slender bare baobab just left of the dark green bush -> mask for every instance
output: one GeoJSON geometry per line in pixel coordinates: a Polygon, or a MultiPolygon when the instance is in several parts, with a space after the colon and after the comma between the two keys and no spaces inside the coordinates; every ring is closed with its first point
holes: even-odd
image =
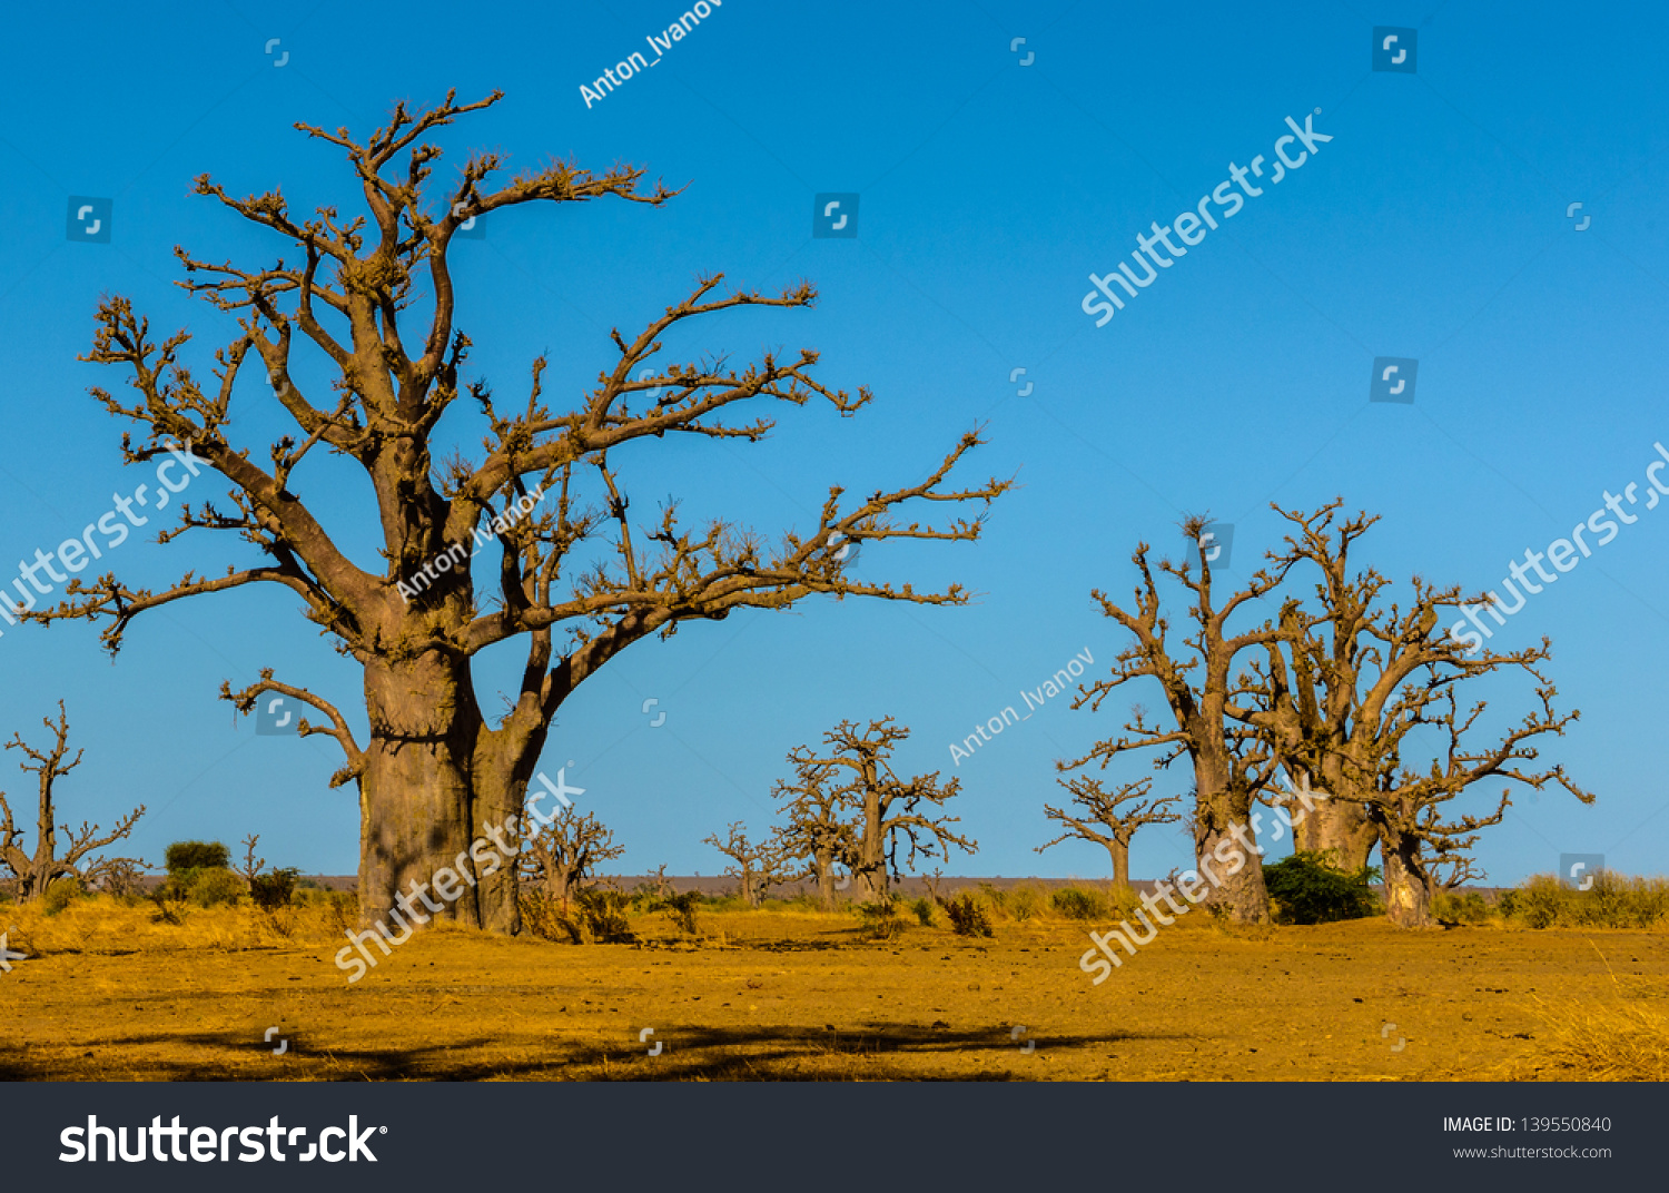
{"type": "MultiPolygon", "coordinates": [[[[1183,522],[1183,534],[1197,544],[1207,526],[1208,519],[1190,517],[1183,522]]],[[[1205,903],[1238,923],[1265,923],[1268,894],[1255,856],[1252,806],[1278,779],[1280,764],[1258,731],[1237,719],[1233,672],[1242,651],[1277,642],[1285,631],[1265,621],[1232,632],[1228,622],[1247,604],[1277,589],[1290,564],[1277,561],[1272,569],[1258,571],[1245,587],[1218,601],[1208,552],[1198,552],[1198,574],[1192,561],[1162,561],[1160,571],[1193,596],[1187,614],[1192,634],[1172,644],[1148,552],[1143,542],[1132,556],[1140,584],[1130,609],[1100,591],[1092,592],[1102,611],[1133,641],[1113,661],[1112,676],[1080,689],[1073,707],[1100,711],[1115,689],[1148,679],[1163,692],[1173,727],[1148,721],[1145,709],[1137,706],[1123,736],[1097,742],[1087,756],[1063,763],[1061,769],[1078,769],[1090,761],[1105,768],[1130,751],[1162,749],[1155,759],[1160,769],[1187,756],[1195,789],[1190,818],[1193,849],[1200,873],[1210,881],[1205,903]]]]}

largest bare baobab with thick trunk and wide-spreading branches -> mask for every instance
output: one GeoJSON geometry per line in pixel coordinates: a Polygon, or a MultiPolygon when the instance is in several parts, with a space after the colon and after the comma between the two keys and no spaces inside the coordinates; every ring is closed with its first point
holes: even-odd
{"type": "MultiPolygon", "coordinates": [[[[813,350],[766,354],[748,367],[668,360],[663,339],[709,315],[809,307],[816,297],[808,284],[779,295],[724,290],[718,275],[699,280],[641,334],[613,332],[611,360],[572,402],[547,399],[542,357],[532,362],[527,392],[511,402],[466,377],[471,339],[456,320],[452,272],[454,250],[469,244],[456,239],[462,224],[532,204],[616,199],[656,207],[673,197],[644,187],[644,172],[624,165],[591,172],[556,162],[502,180],[496,152],[469,157],[449,184],[432,179],[441,150],[426,137],[497,98],[456,103],[449,93],[427,110],[399,103],[364,140],[347,128],[297,125],[345,154],[357,214],[320,207],[304,219],[279,190],[237,199],[209,175],[197,180],[199,194],[290,247],[247,269],[177,250],[182,285],[237,320],[235,337],[214,357],[212,382],[187,362],[187,332],[159,339],[124,297],[100,304],[87,359],[122,369],[135,394],[127,402],[93,390],[112,415],[139,427],[137,440],[124,439],[129,462],[189,444],[194,461],[229,482],[230,506],[184,507],[162,541],[199,529],[230,532],[264,559],[225,574],[189,572],[160,592],[129,587],[115,574],[75,579],[58,607],[30,614],[107,619],[103,641],[117,651],[135,617],[175,601],[252,584],[294,592],[305,616],[362,667],[369,739],[355,741],[324,696],[269,672],[224,694],[245,712],[264,692],[292,696],[324,717],[302,732],[340,742],[347,761],[332,783],[359,788],[366,924],[384,919],[402,888],[452,868],[466,886],[442,914],[516,931],[516,868],[477,874],[471,844],[521,814],[551,721],[581,682],[639,639],[736,609],[786,609],[813,594],[958,604],[966,599],[960,586],[916,592],[860,582],[838,552],[848,542],[975,539],[988,502],[1006,487],[946,486],[980,442],[968,432],[916,484],[845,507],[841,489],[831,489],[816,526],[784,532],[776,546],[734,521],[691,529],[678,521],[676,502],[634,527],[619,452],[666,435],[756,442],[773,422],[748,404],[823,399],[851,415],[870,390],[851,395],[816,380],[813,350]],[[330,375],[329,395],[304,385],[304,350],[330,375]],[[272,444],[270,462],[230,439],[234,392],[250,365],[295,422],[294,435],[272,444]],[[464,410],[457,417],[469,419],[471,409],[479,415],[482,447],[472,459],[451,454],[442,462],[437,454],[456,435],[436,442],[437,429],[454,407],[464,410]],[[726,417],[743,407],[754,412],[726,417]],[[320,454],[364,472],[364,522],[376,527],[381,547],[374,566],[344,546],[361,527],[324,522],[317,499],[325,487],[332,501],[361,489],[344,487],[340,477],[325,486],[320,454]],[[898,511],[918,499],[965,512],[925,526],[898,511]],[[491,552],[479,567],[469,562],[477,542],[491,552]],[[507,711],[489,721],[474,664],[516,641],[526,646],[521,679],[507,711]]],[[[244,389],[247,395],[247,382],[244,389]]],[[[469,432],[469,424],[456,430],[469,432]]]]}

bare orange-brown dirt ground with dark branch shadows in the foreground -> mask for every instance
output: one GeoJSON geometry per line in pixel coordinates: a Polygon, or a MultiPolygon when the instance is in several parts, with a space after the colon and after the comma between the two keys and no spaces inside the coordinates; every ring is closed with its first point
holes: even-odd
{"type": "Polygon", "coordinates": [[[1562,1026],[1669,1004],[1654,931],[1253,939],[1178,919],[1093,986],[1068,921],[865,941],[846,914],[718,913],[699,944],[634,928],[649,939],[429,931],[349,986],[322,931],[169,946],[83,926],[0,974],[0,1078],[1586,1080],[1562,1026]]]}

